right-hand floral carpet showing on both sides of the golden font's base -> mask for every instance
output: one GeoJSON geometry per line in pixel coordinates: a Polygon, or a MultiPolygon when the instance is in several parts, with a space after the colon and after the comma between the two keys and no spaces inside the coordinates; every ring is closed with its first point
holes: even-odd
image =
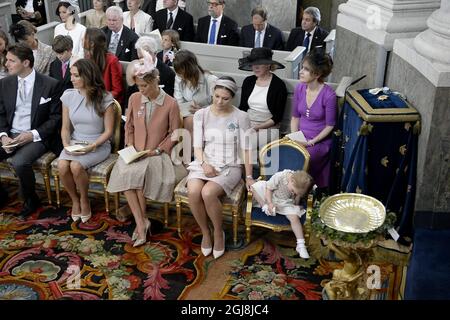
{"type": "MultiPolygon", "coordinates": [[[[298,257],[294,248],[277,243],[275,239],[259,240],[252,252],[232,261],[232,271],[221,297],[243,300],[321,300],[324,283],[333,277],[333,270],[343,263],[333,259],[321,248],[319,256],[326,259],[298,257]]],[[[310,248],[310,250],[312,250],[310,248]]],[[[311,252],[311,251],[310,251],[311,252]]],[[[377,248],[367,265],[378,266],[380,287],[369,291],[371,300],[399,299],[406,268],[404,254],[377,248]]],[[[368,271],[363,282],[371,276],[368,271]]]]}

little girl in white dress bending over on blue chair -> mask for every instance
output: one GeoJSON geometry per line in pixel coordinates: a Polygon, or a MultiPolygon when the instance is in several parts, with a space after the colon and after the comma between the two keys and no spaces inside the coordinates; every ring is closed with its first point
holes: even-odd
{"type": "Polygon", "coordinates": [[[312,177],[303,170],[283,170],[275,173],[269,181],[260,180],[251,186],[253,198],[256,200],[255,206],[259,205],[268,216],[278,213],[285,215],[290,221],[297,238],[296,251],[304,259],[308,259],[309,254],[300,222],[305,209],[300,208],[299,202],[312,186],[312,177]]]}

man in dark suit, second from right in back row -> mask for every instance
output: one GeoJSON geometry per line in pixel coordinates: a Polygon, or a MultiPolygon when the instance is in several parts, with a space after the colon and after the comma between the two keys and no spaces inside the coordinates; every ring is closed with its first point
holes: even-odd
{"type": "Polygon", "coordinates": [[[241,47],[270,48],[283,50],[283,35],[280,29],[267,23],[267,10],[256,7],[252,10],[252,24],[241,29],[241,47]]]}

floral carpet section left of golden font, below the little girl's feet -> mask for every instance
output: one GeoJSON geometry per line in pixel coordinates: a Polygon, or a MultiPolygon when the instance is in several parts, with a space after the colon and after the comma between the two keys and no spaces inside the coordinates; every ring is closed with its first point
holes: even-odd
{"type": "Polygon", "coordinates": [[[243,300],[320,300],[320,282],[330,278],[332,270],[319,274],[315,272],[318,266],[313,258],[299,258],[294,248],[265,240],[254,253],[248,254],[243,260],[232,262],[228,290],[224,297],[243,300]]]}

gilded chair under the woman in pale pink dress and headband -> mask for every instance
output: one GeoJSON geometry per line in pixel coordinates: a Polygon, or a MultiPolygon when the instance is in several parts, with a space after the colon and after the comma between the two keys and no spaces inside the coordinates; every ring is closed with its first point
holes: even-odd
{"type": "MultiPolygon", "coordinates": [[[[177,226],[178,232],[181,232],[181,204],[188,205],[188,195],[187,195],[187,177],[178,183],[175,187],[175,201],[177,205],[177,226]]],[[[223,213],[231,215],[233,223],[233,243],[237,246],[237,234],[238,234],[238,223],[239,223],[239,212],[245,197],[245,182],[243,180],[239,181],[237,186],[233,189],[230,196],[222,197],[222,207],[223,213]]]]}

